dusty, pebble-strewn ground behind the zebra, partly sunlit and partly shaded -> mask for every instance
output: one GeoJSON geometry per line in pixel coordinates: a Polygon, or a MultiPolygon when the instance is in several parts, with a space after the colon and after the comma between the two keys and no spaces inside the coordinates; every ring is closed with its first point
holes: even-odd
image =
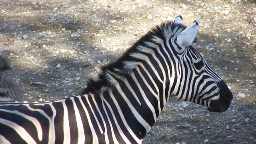
{"type": "Polygon", "coordinates": [[[256,143],[255,0],[0,0],[0,54],[27,101],[77,94],[155,24],[200,18],[200,51],[234,94],[224,113],[170,99],[144,144],[256,143]]]}

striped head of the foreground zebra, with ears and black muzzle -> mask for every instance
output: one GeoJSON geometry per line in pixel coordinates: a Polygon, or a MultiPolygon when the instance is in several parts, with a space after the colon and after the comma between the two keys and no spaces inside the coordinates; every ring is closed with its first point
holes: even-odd
{"type": "Polygon", "coordinates": [[[172,52],[176,53],[174,60],[177,82],[172,87],[173,96],[206,106],[210,112],[226,111],[233,98],[232,92],[192,46],[198,31],[199,19],[187,28],[182,28],[183,20],[178,14],[173,25],[180,27],[169,39],[172,52]]]}

